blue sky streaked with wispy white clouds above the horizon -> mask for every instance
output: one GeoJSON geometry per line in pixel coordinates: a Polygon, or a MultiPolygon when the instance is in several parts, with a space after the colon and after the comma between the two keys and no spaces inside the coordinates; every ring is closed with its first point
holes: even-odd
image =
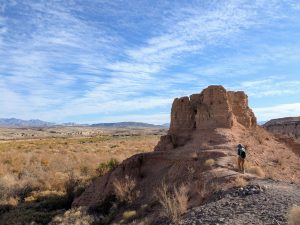
{"type": "Polygon", "coordinates": [[[211,84],[300,116],[300,2],[0,0],[0,118],[162,124],[211,84]]]}

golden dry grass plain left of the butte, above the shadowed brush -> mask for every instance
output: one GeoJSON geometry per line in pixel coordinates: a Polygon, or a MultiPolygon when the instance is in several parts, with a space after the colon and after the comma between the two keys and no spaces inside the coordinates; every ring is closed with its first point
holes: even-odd
{"type": "Polygon", "coordinates": [[[41,189],[63,191],[70,171],[90,179],[98,175],[96,169],[101,163],[112,157],[120,162],[150,151],[158,140],[151,135],[4,141],[0,142],[0,179],[9,175],[18,183],[30,180],[41,189]],[[111,149],[113,145],[119,147],[111,149]]]}

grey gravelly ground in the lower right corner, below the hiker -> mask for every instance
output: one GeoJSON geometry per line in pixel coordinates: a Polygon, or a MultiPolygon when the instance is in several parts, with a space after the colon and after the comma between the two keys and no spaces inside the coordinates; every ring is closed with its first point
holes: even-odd
{"type": "Polygon", "coordinates": [[[300,204],[299,185],[256,180],[244,188],[216,193],[210,202],[190,210],[179,224],[282,225],[287,224],[288,209],[294,204],[300,204]]]}

